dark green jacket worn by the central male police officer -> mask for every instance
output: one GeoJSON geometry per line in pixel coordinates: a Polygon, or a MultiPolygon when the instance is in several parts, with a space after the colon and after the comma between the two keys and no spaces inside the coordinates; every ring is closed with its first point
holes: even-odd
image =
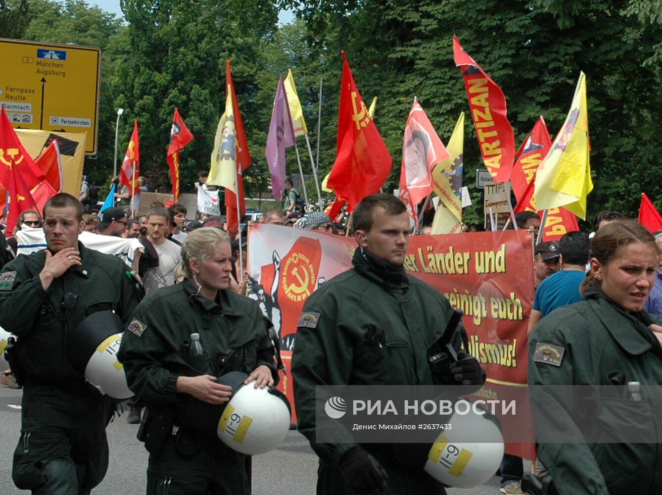
{"type": "MultiPolygon", "coordinates": [[[[428,349],[444,334],[452,314],[440,292],[404,274],[404,268],[364,258],[359,249],[352,262],[352,270],[308,298],[303,312],[320,316],[314,328],[297,329],[292,357],[298,429],[322,465],[332,468],[357,444],[350,431],[348,443],[315,441],[315,386],[432,385],[428,349]],[[375,331],[383,331],[381,347],[369,339],[375,331]]],[[[428,478],[422,471],[415,474],[428,478]]]]}

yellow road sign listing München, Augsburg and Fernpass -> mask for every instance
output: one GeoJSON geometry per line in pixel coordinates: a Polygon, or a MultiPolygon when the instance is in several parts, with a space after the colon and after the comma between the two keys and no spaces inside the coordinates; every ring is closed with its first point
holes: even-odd
{"type": "Polygon", "coordinates": [[[87,133],[97,152],[101,50],[0,39],[0,105],[15,128],[87,133]]]}

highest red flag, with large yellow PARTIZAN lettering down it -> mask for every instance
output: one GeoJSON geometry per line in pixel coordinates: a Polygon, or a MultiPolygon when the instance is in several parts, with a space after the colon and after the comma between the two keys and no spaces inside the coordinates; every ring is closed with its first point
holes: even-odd
{"type": "Polygon", "coordinates": [[[501,88],[453,36],[455,65],[461,67],[471,119],[476,128],[483,162],[494,182],[506,182],[515,157],[515,137],[506,117],[506,98],[501,88]]]}

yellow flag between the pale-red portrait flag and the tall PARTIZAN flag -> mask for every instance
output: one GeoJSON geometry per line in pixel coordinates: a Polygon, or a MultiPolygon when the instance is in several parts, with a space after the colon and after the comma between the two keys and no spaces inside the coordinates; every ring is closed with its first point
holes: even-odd
{"type": "Polygon", "coordinates": [[[462,225],[464,112],[459,115],[446,150],[449,158],[432,170],[432,189],[441,199],[432,223],[433,234],[451,234],[462,225]]]}

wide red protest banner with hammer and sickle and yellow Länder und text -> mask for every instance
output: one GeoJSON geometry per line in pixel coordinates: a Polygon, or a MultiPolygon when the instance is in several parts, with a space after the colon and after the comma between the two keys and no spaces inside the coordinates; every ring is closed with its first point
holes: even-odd
{"type": "MultiPolygon", "coordinates": [[[[273,321],[288,371],[305,301],[324,282],[352,267],[355,248],[352,237],[279,225],[251,226],[249,296],[273,321]]],[[[520,230],[415,236],[404,266],[409,274],[442,292],[453,307],[463,311],[468,351],[481,362],[488,376],[477,397],[496,399],[509,387],[526,387],[526,327],[534,299],[529,233],[520,230]]],[[[294,404],[291,374],[281,378],[279,388],[294,404]]],[[[503,427],[522,429],[526,425],[504,421],[503,427]]],[[[509,444],[506,451],[529,459],[533,453],[528,444],[509,444]]]]}

